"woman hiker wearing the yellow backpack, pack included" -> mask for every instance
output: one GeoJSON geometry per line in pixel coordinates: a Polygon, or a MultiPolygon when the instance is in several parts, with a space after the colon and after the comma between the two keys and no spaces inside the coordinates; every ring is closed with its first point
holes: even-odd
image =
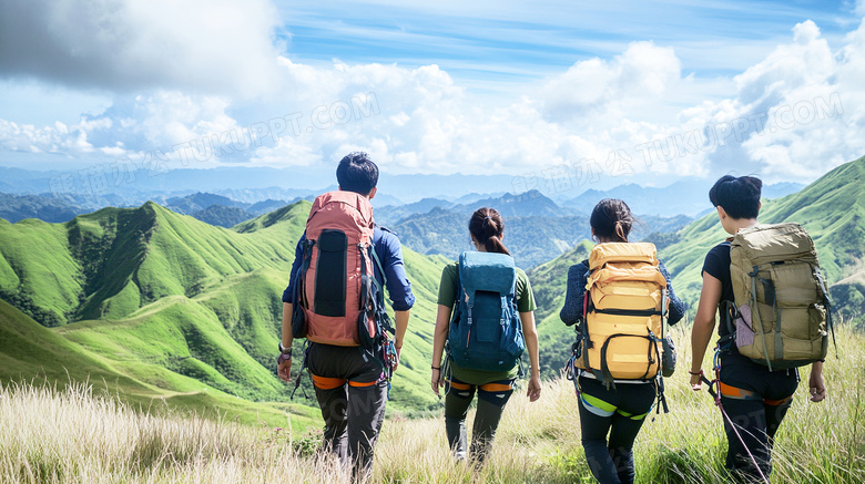
{"type": "MultiPolygon", "coordinates": [[[[645,416],[654,408],[655,397],[659,398],[664,408],[666,405],[665,401],[662,400],[663,382],[655,378],[660,370],[660,361],[654,357],[658,353],[658,347],[661,344],[658,341],[650,343],[648,337],[652,333],[647,330],[647,325],[625,323],[634,320],[640,322],[647,318],[652,318],[651,323],[658,325],[655,333],[661,336],[663,331],[660,327],[662,323],[661,318],[663,317],[662,312],[666,311],[666,319],[670,325],[675,325],[684,315],[684,305],[673,292],[670,274],[666,271],[666,268],[657,260],[654,246],[645,243],[628,243],[628,235],[633,223],[634,218],[631,215],[631,209],[620,199],[606,198],[594,206],[590,225],[592,238],[598,244],[592,249],[589,259],[571,266],[568,270],[564,306],[559,315],[566,325],[578,325],[576,330],[578,334],[581,334],[578,338],[591,340],[591,343],[588,344],[586,341],[580,343],[578,339],[574,349],[580,348],[580,354],[574,352],[569,364],[569,371],[572,372],[571,375],[574,380],[580,403],[580,431],[586,460],[594,478],[602,484],[633,483],[634,439],[637,439],[645,416]],[[594,292],[589,292],[589,297],[587,297],[587,282],[591,286],[599,281],[599,278],[604,277],[608,265],[612,265],[615,261],[613,257],[603,256],[604,251],[618,254],[619,262],[624,260],[624,264],[629,264],[629,267],[639,266],[644,271],[647,282],[641,287],[645,287],[647,291],[651,289],[651,292],[645,294],[645,300],[637,302],[639,307],[628,308],[635,309],[637,311],[632,311],[635,312],[634,315],[629,315],[624,310],[625,308],[618,307],[614,308],[617,312],[611,310],[603,313],[603,309],[600,307],[602,301],[598,300],[599,298],[596,299],[594,292]],[[610,259],[610,262],[607,262],[607,265],[594,266],[596,259],[603,261],[607,258],[610,259]],[[634,259],[634,262],[631,262],[631,259],[634,259]],[[638,259],[642,259],[642,264],[637,262],[638,259]],[[596,270],[590,270],[590,267],[596,270]],[[663,299],[669,300],[669,308],[663,308],[665,306],[662,302],[663,299]],[[658,308],[659,303],[662,307],[658,308]],[[596,305],[599,307],[596,308],[596,305]],[[653,316],[648,316],[645,310],[652,308],[652,306],[655,307],[650,311],[653,316]],[[600,320],[601,317],[606,317],[606,320],[600,320]],[[622,328],[621,331],[625,331],[623,328],[635,326],[638,330],[647,334],[638,338],[619,338],[617,340],[613,337],[630,334],[613,333],[610,336],[609,327],[612,327],[612,325],[606,325],[607,321],[619,322],[619,327],[622,328]],[[596,331],[600,333],[606,332],[608,339],[604,340],[604,336],[599,336],[596,331]],[[624,351],[629,346],[633,347],[634,356],[631,360],[639,361],[641,358],[642,362],[620,364],[619,367],[613,367],[612,363],[608,367],[607,362],[592,362],[598,356],[601,356],[601,360],[603,359],[602,356],[604,353],[600,351],[607,348],[606,342],[613,342],[609,346],[612,351],[624,351]],[[590,354],[592,351],[596,352],[596,356],[590,354]],[[586,362],[591,362],[591,364],[586,364],[586,362]],[[607,371],[600,371],[598,368],[592,370],[591,365],[600,365],[608,369],[610,371],[609,377],[607,371]],[[627,368],[629,365],[632,368],[627,368]],[[628,371],[632,374],[628,374],[628,371]],[[608,433],[609,441],[607,439],[608,433]]],[[[610,285],[614,284],[617,282],[610,282],[610,285]]],[[[632,290],[629,289],[629,291],[622,292],[629,294],[632,290]]],[[[610,298],[612,298],[614,292],[610,291],[610,298]]],[[[623,299],[620,298],[619,303],[623,299]]],[[[664,352],[666,357],[672,358],[672,348],[664,348],[664,352]]],[[[610,357],[607,358],[607,361],[612,360],[610,357]]]]}

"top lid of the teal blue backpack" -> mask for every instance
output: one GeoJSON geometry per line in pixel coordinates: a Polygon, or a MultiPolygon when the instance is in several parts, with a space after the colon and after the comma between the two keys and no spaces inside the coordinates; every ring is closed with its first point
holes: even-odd
{"type": "Polygon", "coordinates": [[[459,256],[459,284],[475,301],[475,291],[516,296],[517,270],[513,257],[507,254],[466,251],[459,256]]]}

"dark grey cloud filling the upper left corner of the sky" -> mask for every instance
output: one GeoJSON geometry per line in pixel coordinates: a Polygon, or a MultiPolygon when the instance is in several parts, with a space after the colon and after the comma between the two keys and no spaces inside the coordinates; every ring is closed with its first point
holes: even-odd
{"type": "Polygon", "coordinates": [[[278,21],[267,0],[10,0],[0,72],[128,91],[266,92],[278,21]]]}

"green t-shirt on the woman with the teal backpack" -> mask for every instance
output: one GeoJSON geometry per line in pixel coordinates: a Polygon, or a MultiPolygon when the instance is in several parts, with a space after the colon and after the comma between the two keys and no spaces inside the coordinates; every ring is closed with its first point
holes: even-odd
{"type": "MultiPolygon", "coordinates": [[[[450,308],[454,312],[454,305],[457,298],[457,286],[459,286],[459,264],[454,262],[445,266],[441,271],[441,282],[438,286],[438,303],[450,308]]],[[[528,276],[519,267],[517,268],[517,310],[519,312],[531,312],[537,308],[535,305],[535,294],[531,291],[531,284],[528,276]]],[[[455,379],[469,384],[485,384],[499,380],[513,380],[519,373],[519,365],[515,365],[508,371],[481,371],[460,368],[449,362],[451,373],[455,379]]]]}

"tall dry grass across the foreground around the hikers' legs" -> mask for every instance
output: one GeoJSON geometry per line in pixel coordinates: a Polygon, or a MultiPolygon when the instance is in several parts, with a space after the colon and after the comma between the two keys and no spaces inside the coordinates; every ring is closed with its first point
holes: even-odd
{"type": "MultiPolygon", "coordinates": [[[[689,334],[673,334],[681,357],[680,370],[666,380],[671,413],[647,419],[634,449],[637,480],[729,482],[721,414],[705,392],[688,387],[689,334]]],[[[842,328],[837,359],[834,354],[825,369],[826,401],[810,403],[807,390],[800,389],[782,424],[773,483],[865,482],[865,337],[842,328]]],[[[94,395],[85,383],[63,392],[10,384],[0,389],[0,482],[348,482],[333,460],[315,456],[315,433],[296,440],[289,434],[196,415],[154,416],[111,395],[94,395]]],[[[567,380],[547,382],[535,403],[515,394],[493,454],[479,472],[451,459],[441,418],[388,420],[376,449],[374,481],[592,482],[580,446],[573,387],[567,380]]]]}

